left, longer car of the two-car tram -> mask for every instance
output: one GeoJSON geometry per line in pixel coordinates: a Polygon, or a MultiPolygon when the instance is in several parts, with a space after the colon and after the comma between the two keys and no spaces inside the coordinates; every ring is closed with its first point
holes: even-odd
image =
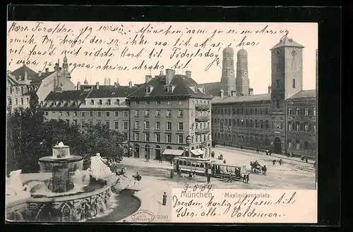
{"type": "Polygon", "coordinates": [[[174,158],[174,171],[181,173],[189,173],[194,171],[198,176],[205,176],[212,173],[212,164],[215,161],[210,159],[200,159],[191,157],[176,157],[174,158]]]}

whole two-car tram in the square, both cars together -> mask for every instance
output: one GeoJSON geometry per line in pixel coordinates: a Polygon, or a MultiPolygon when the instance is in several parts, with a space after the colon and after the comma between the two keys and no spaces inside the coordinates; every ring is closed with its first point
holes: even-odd
{"type": "Polygon", "coordinates": [[[229,164],[219,164],[211,159],[198,159],[192,157],[176,157],[173,162],[174,171],[189,173],[194,171],[196,175],[206,176],[210,174],[214,178],[241,179],[246,173],[246,166],[232,166],[229,164]]]}

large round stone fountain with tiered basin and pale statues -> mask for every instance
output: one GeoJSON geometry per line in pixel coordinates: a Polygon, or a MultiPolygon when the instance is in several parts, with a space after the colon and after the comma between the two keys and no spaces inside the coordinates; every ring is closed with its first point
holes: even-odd
{"type": "MultiPolygon", "coordinates": [[[[114,196],[109,180],[115,175],[100,154],[91,158],[90,169],[82,170],[83,157],[71,155],[70,147],[64,143],[54,146],[52,153],[40,158],[40,173],[37,173],[38,177],[52,173],[50,178],[32,180],[23,186],[20,171],[15,171],[6,180],[6,204],[16,195],[23,196],[27,204],[25,216],[21,214],[17,218],[20,221],[23,218],[25,221],[82,221],[106,214],[114,196]]],[[[11,207],[7,204],[8,208],[11,207]]],[[[13,215],[8,214],[8,219],[15,220],[13,215]]]]}

